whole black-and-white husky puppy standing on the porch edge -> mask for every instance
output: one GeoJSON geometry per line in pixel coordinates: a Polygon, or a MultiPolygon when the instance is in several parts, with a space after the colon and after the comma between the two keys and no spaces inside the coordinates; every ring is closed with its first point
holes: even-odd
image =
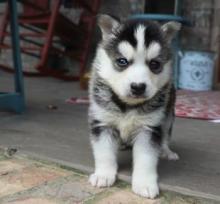
{"type": "Polygon", "coordinates": [[[95,172],[93,186],[113,185],[120,144],[133,147],[132,190],[159,194],[161,155],[178,159],[168,147],[174,119],[171,41],[177,22],[98,19],[102,31],[90,80],[89,125],[95,172]]]}

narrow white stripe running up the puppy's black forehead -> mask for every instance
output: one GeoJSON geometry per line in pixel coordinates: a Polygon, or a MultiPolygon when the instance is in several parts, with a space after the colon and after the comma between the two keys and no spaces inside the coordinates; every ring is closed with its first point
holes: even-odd
{"type": "Polygon", "coordinates": [[[135,38],[137,40],[137,51],[143,52],[146,50],[145,48],[145,29],[146,27],[144,25],[139,25],[137,27],[137,30],[135,32],[135,38]]]}

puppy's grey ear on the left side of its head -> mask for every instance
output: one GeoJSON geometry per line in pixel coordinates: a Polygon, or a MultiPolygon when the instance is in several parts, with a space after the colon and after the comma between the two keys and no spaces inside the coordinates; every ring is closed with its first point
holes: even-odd
{"type": "Polygon", "coordinates": [[[98,25],[102,31],[103,40],[107,40],[119,27],[120,22],[109,15],[101,14],[98,16],[98,25]]]}

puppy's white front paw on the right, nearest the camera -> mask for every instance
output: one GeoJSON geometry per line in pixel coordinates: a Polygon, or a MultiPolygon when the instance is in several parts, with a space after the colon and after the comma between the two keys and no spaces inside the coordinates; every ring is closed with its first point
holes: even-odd
{"type": "Polygon", "coordinates": [[[159,187],[156,181],[133,181],[132,190],[140,196],[151,199],[159,195],[159,187]]]}

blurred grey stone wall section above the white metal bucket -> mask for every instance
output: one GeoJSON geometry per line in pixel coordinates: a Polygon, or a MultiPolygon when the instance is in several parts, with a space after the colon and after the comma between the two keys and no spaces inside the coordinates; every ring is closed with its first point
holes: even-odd
{"type": "Polygon", "coordinates": [[[213,6],[213,0],[183,1],[183,16],[192,23],[192,27],[183,28],[182,44],[185,49],[211,50],[213,6]]]}

